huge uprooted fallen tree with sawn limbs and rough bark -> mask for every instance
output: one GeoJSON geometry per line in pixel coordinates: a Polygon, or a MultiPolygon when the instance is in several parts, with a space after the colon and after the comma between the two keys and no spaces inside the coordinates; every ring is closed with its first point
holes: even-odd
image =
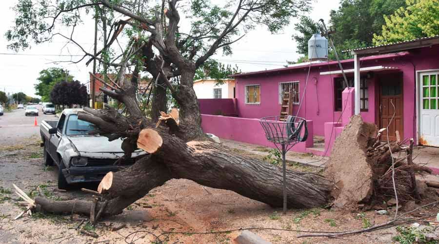
{"type": "MultiPolygon", "coordinates": [[[[88,62],[97,60],[118,72],[117,80],[114,81],[109,78],[95,79],[102,82],[103,87],[100,87],[100,90],[104,94],[124,104],[125,113],[121,114],[110,107],[103,110],[86,108],[78,114],[78,118],[95,124],[96,129],[92,134],[106,136],[110,141],[122,138],[124,158],[131,157],[137,148],[149,152],[149,155],[139,158],[134,165],[125,170],[108,173],[98,188],[97,202],[54,202],[37,197],[36,205],[52,213],[91,213],[91,219],[98,221],[100,216],[119,214],[125,207],[169,179],[183,178],[214,188],[232,190],[273,207],[281,206],[282,171],[279,167],[233,153],[228,148],[210,141],[203,134],[193,79],[197,68],[217,50],[222,48],[226,53],[230,52],[230,45],[242,37],[237,37],[239,30],[251,30],[254,23],[263,23],[271,31],[279,30],[291,17],[297,16],[300,10],[307,9],[307,1],[239,0],[233,5],[234,11],[220,11],[221,7],[205,4],[205,1],[191,1],[190,11],[193,17],[204,22],[194,21],[189,33],[179,31],[178,0],[170,0],[167,4],[162,1],[161,8],[151,8],[160,9],[155,11],[153,16],[150,9],[143,11],[142,1],[133,1],[131,5],[127,4],[124,7],[109,0],[83,2],[72,1],[73,5],[69,6],[70,8],[63,5],[55,10],[51,10],[51,7],[57,4],[45,6],[41,13],[30,15],[34,16],[30,18],[52,14],[55,16],[52,24],[18,26],[18,35],[11,36],[17,38],[17,45],[20,45],[26,43],[23,41],[23,38],[26,38],[26,35],[22,35],[23,28],[28,28],[30,32],[43,28],[39,34],[35,34],[37,36],[45,32],[50,33],[55,20],[62,13],[74,13],[65,23],[76,26],[76,21],[80,18],[79,9],[95,8],[100,15],[112,11],[126,16],[128,19],[115,22],[112,31],[105,37],[107,41],[103,49],[98,52],[108,55],[111,44],[117,42],[123,28],[129,26],[130,31],[138,35],[130,37],[129,44],[115,61],[109,61],[104,56],[98,57],[98,54],[90,54],[81,48],[85,53],[83,58],[90,57],[88,62]],[[130,7],[132,11],[129,10],[130,7]],[[116,63],[116,60],[120,62],[116,63]],[[132,70],[131,79],[127,79],[128,76],[125,75],[128,70],[132,70]],[[160,118],[156,112],[152,113],[151,118],[145,116],[137,100],[141,70],[153,76],[149,85],[154,87],[152,90],[155,91],[152,102],[156,106],[154,110],[157,112],[159,108],[166,107],[163,96],[168,90],[180,107],[179,113],[173,110],[170,114],[162,113],[160,118]],[[97,213],[95,210],[98,210],[97,213]]],[[[17,9],[39,9],[28,9],[26,6],[17,9]]],[[[232,5],[225,7],[230,6],[232,5]]],[[[29,16],[24,12],[21,13],[22,16],[29,16]]],[[[46,20],[42,18],[30,22],[40,21],[46,20]]],[[[20,24],[23,21],[16,22],[20,24]]],[[[71,39],[73,33],[70,37],[61,36],[79,46],[71,39]]],[[[360,118],[355,117],[335,142],[329,164],[329,177],[287,170],[288,207],[322,206],[333,198],[339,206],[345,206],[371,201],[380,194],[391,194],[386,178],[389,176],[389,165],[392,166],[392,172],[395,169],[401,172],[397,173],[396,177],[401,175],[404,182],[406,175],[412,177],[414,166],[402,161],[398,162],[398,165],[390,163],[395,162],[393,154],[386,149],[387,144],[377,140],[376,134],[375,125],[363,123],[360,118]],[[351,147],[345,147],[343,143],[351,147]],[[347,165],[346,161],[350,161],[350,164],[347,165]],[[358,179],[361,179],[361,190],[355,185],[359,183],[358,179]]],[[[388,144],[388,147],[394,152],[403,150],[402,142],[388,144]]],[[[411,182],[413,183],[412,179],[411,182]]],[[[408,196],[414,194],[413,189],[402,191],[402,188],[398,188],[398,191],[405,192],[408,196]]]]}

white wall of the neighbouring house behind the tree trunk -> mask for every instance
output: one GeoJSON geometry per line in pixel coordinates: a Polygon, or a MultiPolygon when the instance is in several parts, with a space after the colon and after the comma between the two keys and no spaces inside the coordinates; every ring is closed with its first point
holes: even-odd
{"type": "Polygon", "coordinates": [[[221,89],[221,98],[233,98],[233,87],[235,80],[223,80],[223,84],[217,85],[216,80],[199,80],[194,81],[194,90],[198,99],[213,99],[215,88],[221,89]]]}

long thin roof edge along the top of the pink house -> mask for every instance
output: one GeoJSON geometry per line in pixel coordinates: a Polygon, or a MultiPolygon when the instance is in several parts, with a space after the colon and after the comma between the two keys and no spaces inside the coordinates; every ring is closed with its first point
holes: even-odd
{"type": "MultiPolygon", "coordinates": [[[[400,57],[409,54],[408,52],[402,52],[398,54],[384,54],[384,55],[378,55],[378,56],[370,56],[370,57],[364,57],[361,58],[361,61],[366,60],[379,60],[379,59],[388,59],[388,58],[394,58],[394,57],[400,57]]],[[[347,59],[347,60],[340,60],[341,63],[350,63],[354,62],[354,59],[347,59]]],[[[325,62],[306,62],[306,63],[299,63],[295,66],[286,67],[286,68],[279,68],[279,69],[270,69],[270,70],[261,70],[261,71],[254,71],[254,72],[245,72],[245,73],[237,73],[231,75],[231,77],[245,77],[245,76],[254,76],[254,75],[261,75],[261,74],[269,74],[269,73],[282,73],[285,71],[292,71],[297,69],[303,69],[308,67],[319,67],[319,66],[328,66],[328,65],[335,65],[337,64],[337,61],[325,61],[325,62]]]]}

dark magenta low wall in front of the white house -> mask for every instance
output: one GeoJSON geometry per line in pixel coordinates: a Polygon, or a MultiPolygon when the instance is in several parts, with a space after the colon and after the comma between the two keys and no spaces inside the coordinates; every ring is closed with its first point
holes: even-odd
{"type": "Polygon", "coordinates": [[[236,109],[236,99],[199,99],[201,114],[211,115],[238,115],[236,109]]]}

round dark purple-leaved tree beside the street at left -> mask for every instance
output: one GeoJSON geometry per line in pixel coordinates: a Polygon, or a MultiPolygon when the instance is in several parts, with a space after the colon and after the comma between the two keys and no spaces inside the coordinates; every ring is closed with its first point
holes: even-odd
{"type": "Polygon", "coordinates": [[[79,81],[62,81],[54,85],[50,93],[50,101],[57,105],[86,105],[87,88],[79,81]]]}

